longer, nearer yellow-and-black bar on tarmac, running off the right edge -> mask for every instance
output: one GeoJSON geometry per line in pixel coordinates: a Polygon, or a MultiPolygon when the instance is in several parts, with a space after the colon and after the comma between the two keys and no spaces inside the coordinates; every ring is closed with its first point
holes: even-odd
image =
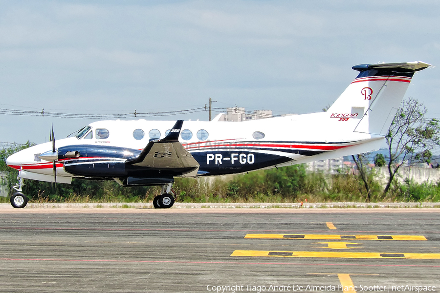
{"type": "Polygon", "coordinates": [[[320,257],[320,258],[401,258],[440,259],[440,253],[336,252],[336,251],[242,251],[231,256],[320,257]]]}

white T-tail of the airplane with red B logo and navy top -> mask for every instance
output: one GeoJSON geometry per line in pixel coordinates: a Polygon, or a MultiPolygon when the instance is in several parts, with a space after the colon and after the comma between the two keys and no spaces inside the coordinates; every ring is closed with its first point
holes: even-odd
{"type": "Polygon", "coordinates": [[[359,75],[327,112],[331,118],[359,121],[356,132],[385,135],[414,72],[429,66],[421,61],[353,66],[359,75]]]}

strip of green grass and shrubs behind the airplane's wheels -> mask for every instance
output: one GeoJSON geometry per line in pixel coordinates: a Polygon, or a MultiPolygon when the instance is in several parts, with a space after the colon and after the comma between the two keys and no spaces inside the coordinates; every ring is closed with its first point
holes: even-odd
{"type": "MultiPolygon", "coordinates": [[[[440,202],[440,182],[394,182],[385,197],[377,182],[372,182],[371,186],[372,203],[440,202]]],[[[151,203],[160,193],[160,187],[122,188],[115,182],[85,180],[73,180],[71,186],[57,184],[56,189],[51,188],[50,183],[26,180],[25,187],[28,190],[24,193],[30,203],[97,203],[99,208],[103,207],[102,203],[109,202],[123,203],[122,208],[130,208],[130,203],[151,203]]],[[[183,203],[281,204],[306,203],[306,199],[307,204],[366,202],[365,188],[356,174],[344,170],[335,175],[307,173],[301,165],[236,175],[229,181],[176,178],[173,188],[177,202],[183,203]]],[[[9,203],[9,197],[0,197],[0,203],[9,203]]],[[[367,208],[372,207],[367,205],[367,208]]]]}

